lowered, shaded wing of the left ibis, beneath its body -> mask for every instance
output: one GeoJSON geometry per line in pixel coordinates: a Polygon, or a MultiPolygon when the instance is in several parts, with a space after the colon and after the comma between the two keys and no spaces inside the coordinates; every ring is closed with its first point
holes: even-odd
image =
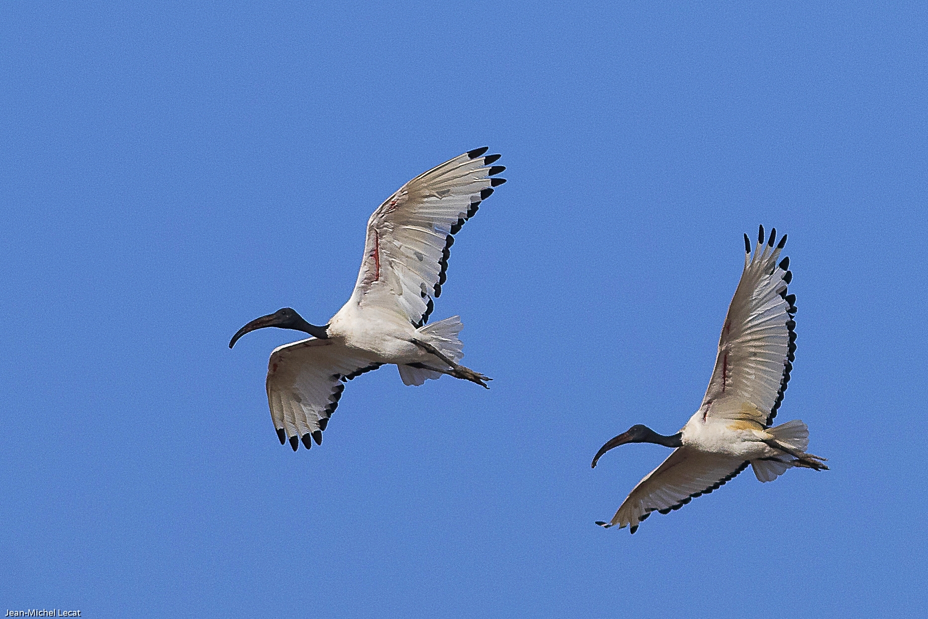
{"type": "Polygon", "coordinates": [[[267,364],[267,403],[277,438],[283,445],[309,449],[322,444],[322,431],[339,406],[345,380],[380,364],[371,363],[333,340],[310,338],[275,349],[267,364]]]}

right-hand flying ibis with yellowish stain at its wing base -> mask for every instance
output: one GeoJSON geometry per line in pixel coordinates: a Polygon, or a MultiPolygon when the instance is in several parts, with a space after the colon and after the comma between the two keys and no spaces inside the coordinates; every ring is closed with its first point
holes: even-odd
{"type": "Polygon", "coordinates": [[[670,436],[634,425],[602,445],[597,460],[618,445],[656,443],[676,447],[622,502],[604,527],[628,526],[632,533],[652,511],[669,513],[696,496],[709,494],[744,471],[748,465],[761,482],[772,482],[792,467],[827,470],[825,458],[806,453],[808,428],[798,419],[775,426],[796,350],[794,294],[790,259],[780,250],[786,235],[774,246],[777,230],[764,243],[760,226],[754,256],[744,235],[744,272],[728,306],[718,341],[718,355],[709,388],[683,430],[670,436]]]}

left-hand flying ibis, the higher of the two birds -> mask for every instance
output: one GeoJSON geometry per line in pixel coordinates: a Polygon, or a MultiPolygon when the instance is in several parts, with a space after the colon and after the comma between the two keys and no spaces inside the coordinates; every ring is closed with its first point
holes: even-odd
{"type": "Polygon", "coordinates": [[[486,387],[491,380],[458,365],[461,322],[452,316],[427,324],[442,293],[454,235],[506,168],[499,155],[476,148],[419,174],[380,204],[367,221],[367,243],[354,293],[329,324],[311,325],[285,307],[238,329],[229,348],[254,329],[278,327],[311,338],[280,346],[267,367],[267,401],[280,444],[293,451],[322,444],[322,431],[342,397],[344,382],[396,364],[407,385],[443,374],[486,387]]]}

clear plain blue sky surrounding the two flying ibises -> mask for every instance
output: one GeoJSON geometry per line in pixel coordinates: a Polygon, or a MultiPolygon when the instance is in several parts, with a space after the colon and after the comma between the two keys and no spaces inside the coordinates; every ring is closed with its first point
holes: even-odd
{"type": "Polygon", "coordinates": [[[872,617],[928,602],[922,3],[5,3],[0,612],[872,617]],[[321,448],[266,360],[354,285],[367,216],[489,145],[458,235],[485,391],[393,367],[321,448]],[[750,472],[604,531],[702,398],[741,233],[789,233],[781,420],[750,472]]]}

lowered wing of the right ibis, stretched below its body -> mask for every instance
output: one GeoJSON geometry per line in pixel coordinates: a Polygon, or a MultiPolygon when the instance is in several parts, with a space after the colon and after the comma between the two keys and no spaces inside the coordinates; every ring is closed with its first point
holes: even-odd
{"type": "Polygon", "coordinates": [[[680,509],[696,496],[707,495],[747,468],[749,462],[730,456],[708,454],[689,447],[677,447],[661,466],[638,482],[625,497],[611,522],[597,522],[605,527],[630,525],[638,530],[638,523],[651,515],[651,511],[665,514],[680,509]]]}

